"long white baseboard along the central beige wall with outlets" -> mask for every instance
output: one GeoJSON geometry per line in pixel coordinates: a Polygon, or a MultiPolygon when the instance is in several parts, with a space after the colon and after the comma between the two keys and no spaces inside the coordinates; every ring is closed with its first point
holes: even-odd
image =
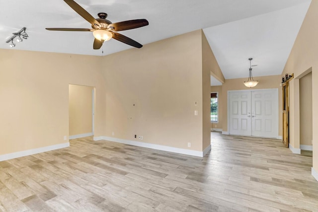
{"type": "Polygon", "coordinates": [[[141,146],[141,147],[146,147],[146,148],[152,148],[152,149],[163,150],[163,151],[170,151],[170,152],[187,154],[187,155],[198,156],[198,157],[203,157],[204,156],[203,153],[205,151],[208,152],[211,149],[211,145],[210,145],[210,149],[208,146],[206,149],[204,149],[204,151],[195,151],[195,150],[190,150],[190,149],[176,148],[176,147],[171,147],[171,146],[164,146],[164,145],[159,145],[159,144],[154,144],[154,143],[145,143],[145,142],[140,142],[140,141],[117,139],[117,138],[106,137],[106,136],[94,137],[94,141],[100,141],[100,140],[125,143],[125,144],[134,145],[134,146],[141,146]]]}

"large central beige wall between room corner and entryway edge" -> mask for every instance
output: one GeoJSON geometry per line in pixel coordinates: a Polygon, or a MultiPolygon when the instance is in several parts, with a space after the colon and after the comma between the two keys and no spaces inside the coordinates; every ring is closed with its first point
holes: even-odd
{"type": "Polygon", "coordinates": [[[201,30],[108,55],[103,67],[105,136],[203,150],[201,30]]]}

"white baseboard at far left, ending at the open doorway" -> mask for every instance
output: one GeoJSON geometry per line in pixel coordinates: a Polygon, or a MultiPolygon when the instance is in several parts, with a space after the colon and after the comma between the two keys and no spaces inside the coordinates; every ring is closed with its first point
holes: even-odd
{"type": "Polygon", "coordinates": [[[37,154],[37,153],[41,153],[45,151],[51,151],[51,150],[55,150],[59,148],[65,148],[69,146],[70,146],[70,142],[66,142],[66,143],[59,143],[59,144],[51,145],[51,146],[44,146],[40,148],[29,149],[25,151],[17,151],[17,152],[12,152],[8,154],[2,154],[0,155],[0,161],[9,160],[9,159],[17,158],[17,157],[23,157],[23,156],[27,156],[31,154],[37,154]]]}

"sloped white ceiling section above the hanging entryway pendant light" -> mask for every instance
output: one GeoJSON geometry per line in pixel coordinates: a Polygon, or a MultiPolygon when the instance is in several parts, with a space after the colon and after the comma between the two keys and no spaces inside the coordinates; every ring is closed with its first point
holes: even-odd
{"type": "Polygon", "coordinates": [[[226,79],[281,74],[310,1],[273,12],[205,28],[226,79]]]}

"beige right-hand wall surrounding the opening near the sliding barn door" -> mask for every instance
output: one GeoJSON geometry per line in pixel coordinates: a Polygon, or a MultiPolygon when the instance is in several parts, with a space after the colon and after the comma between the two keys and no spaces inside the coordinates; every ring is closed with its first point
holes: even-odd
{"type": "MultiPolygon", "coordinates": [[[[294,73],[294,80],[299,81],[299,78],[306,75],[308,72],[312,71],[312,80],[318,81],[318,1],[313,0],[302,27],[298,33],[296,41],[294,43],[293,49],[289,55],[287,60],[285,69],[283,71],[283,75],[285,73],[294,73]]],[[[299,86],[297,83],[291,83],[290,90],[294,91],[295,96],[291,96],[290,101],[294,100],[295,102],[291,102],[291,105],[296,105],[299,96],[299,86]],[[296,86],[295,86],[296,84],[296,86]],[[296,93],[296,94],[295,94],[296,93]]],[[[312,86],[313,91],[318,90],[318,83],[313,83],[312,86]]],[[[313,92],[314,93],[314,92],[313,92]]],[[[313,108],[318,108],[318,97],[313,95],[313,108]]],[[[299,110],[290,111],[290,123],[294,125],[299,125],[300,120],[299,110]]],[[[318,111],[313,110],[313,167],[316,171],[318,171],[318,111]]],[[[290,141],[291,144],[294,144],[293,147],[297,148],[299,146],[298,134],[300,129],[295,128],[296,132],[290,132],[290,141]]]]}

